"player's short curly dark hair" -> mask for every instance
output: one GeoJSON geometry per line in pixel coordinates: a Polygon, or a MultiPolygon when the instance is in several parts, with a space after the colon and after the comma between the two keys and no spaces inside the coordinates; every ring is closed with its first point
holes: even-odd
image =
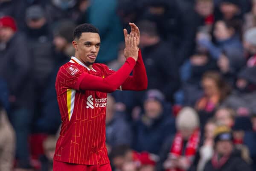
{"type": "Polygon", "coordinates": [[[95,26],[93,26],[92,24],[84,23],[76,26],[76,29],[73,32],[73,39],[79,39],[81,37],[81,34],[84,32],[92,32],[99,34],[99,30],[95,26]]]}

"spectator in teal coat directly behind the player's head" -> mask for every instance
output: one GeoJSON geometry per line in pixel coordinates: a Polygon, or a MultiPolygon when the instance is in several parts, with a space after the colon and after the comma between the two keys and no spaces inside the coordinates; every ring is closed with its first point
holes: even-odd
{"type": "Polygon", "coordinates": [[[101,50],[99,63],[108,63],[117,58],[119,43],[123,40],[122,26],[116,14],[117,0],[93,0],[90,4],[88,22],[99,29],[101,50]]]}

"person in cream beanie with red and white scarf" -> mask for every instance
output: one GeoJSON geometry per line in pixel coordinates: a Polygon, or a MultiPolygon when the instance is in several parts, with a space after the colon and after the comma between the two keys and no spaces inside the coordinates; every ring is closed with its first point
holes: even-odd
{"type": "Polygon", "coordinates": [[[191,107],[184,107],[177,115],[175,136],[170,136],[160,150],[157,170],[187,171],[194,162],[200,142],[198,114],[191,107]]]}

